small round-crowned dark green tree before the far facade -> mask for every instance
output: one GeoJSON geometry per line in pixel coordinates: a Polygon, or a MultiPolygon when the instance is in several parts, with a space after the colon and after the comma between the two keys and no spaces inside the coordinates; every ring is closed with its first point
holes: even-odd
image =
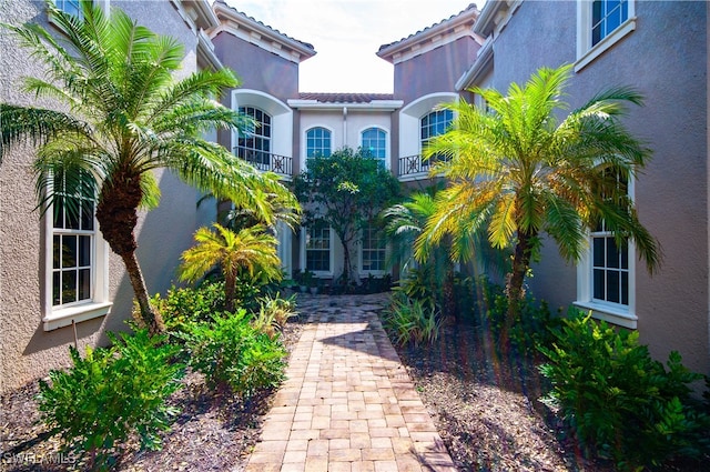
{"type": "Polygon", "coordinates": [[[363,228],[399,198],[399,181],[362,149],[343,148],[331,157],[310,159],[307,169],[294,179],[294,189],[304,208],[303,224],[322,220],[343,243],[342,282],[347,284],[353,279],[353,243],[363,228]]]}

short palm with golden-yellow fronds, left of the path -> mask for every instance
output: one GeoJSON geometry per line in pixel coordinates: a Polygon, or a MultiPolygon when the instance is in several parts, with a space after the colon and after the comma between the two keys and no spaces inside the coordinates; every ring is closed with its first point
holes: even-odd
{"type": "Polygon", "coordinates": [[[241,270],[266,281],[280,280],[281,261],[276,254],[276,239],[256,225],[234,232],[220,223],[216,231],[200,228],[193,248],[182,253],[180,279],[195,282],[215,265],[224,273],[224,299],[227,311],[234,311],[236,280],[241,270]]]}

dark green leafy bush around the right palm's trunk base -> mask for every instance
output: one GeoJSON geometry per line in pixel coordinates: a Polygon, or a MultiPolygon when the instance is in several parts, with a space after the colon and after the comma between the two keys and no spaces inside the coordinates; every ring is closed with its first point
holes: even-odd
{"type": "MultiPolygon", "coordinates": [[[[483,310],[486,313],[489,329],[496,340],[506,322],[508,313],[508,298],[505,290],[486,279],[479,280],[483,293],[483,310]]],[[[550,347],[554,341],[552,329],[560,325],[561,318],[554,317],[547,302],[539,303],[532,297],[526,297],[520,307],[520,313],[514,320],[508,341],[517,352],[532,356],[538,347],[550,347]]]]}

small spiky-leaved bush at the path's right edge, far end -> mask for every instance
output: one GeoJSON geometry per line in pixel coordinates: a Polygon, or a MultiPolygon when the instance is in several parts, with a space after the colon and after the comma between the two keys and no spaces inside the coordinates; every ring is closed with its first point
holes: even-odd
{"type": "Polygon", "coordinates": [[[440,318],[436,309],[416,299],[395,293],[383,313],[384,328],[399,345],[430,344],[439,335],[440,318]]]}

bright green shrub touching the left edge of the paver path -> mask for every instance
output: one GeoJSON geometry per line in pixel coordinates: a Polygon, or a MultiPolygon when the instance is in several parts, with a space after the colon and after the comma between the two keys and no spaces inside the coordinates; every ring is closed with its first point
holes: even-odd
{"type": "Polygon", "coordinates": [[[271,339],[254,328],[243,309],[215,315],[211,324],[192,323],[185,338],[192,366],[212,388],[229,386],[250,396],[284,378],[286,350],[278,337],[271,339]]]}

